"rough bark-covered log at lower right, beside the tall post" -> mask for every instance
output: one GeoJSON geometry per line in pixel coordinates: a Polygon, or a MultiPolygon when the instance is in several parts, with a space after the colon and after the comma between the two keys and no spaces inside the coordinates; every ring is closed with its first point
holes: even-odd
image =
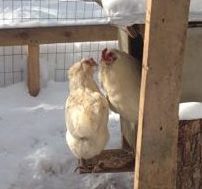
{"type": "Polygon", "coordinates": [[[177,189],[202,188],[202,120],[180,121],[177,189]]]}

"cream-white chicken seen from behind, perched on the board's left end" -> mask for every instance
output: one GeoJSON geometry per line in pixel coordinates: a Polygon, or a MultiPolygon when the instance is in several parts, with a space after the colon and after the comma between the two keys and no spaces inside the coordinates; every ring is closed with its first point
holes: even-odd
{"type": "Polygon", "coordinates": [[[82,59],[68,71],[66,141],[72,153],[81,160],[100,154],[109,139],[108,102],[93,80],[96,65],[92,58],[82,59]]]}

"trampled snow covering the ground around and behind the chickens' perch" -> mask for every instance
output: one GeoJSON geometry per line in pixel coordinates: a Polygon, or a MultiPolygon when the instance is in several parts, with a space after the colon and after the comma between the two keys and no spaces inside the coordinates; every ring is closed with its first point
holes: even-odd
{"type": "MultiPolygon", "coordinates": [[[[65,143],[67,83],[50,81],[30,97],[25,83],[0,88],[1,189],[127,189],[130,173],[74,173],[77,161],[65,143]]],[[[120,147],[118,115],[110,114],[108,148],[120,147]]]]}

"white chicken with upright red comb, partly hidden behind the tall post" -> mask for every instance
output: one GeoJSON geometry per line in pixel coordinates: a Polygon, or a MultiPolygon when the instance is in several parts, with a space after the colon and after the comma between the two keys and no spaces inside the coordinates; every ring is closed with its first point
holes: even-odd
{"type": "Polygon", "coordinates": [[[116,49],[104,49],[100,81],[112,111],[133,126],[137,123],[141,68],[138,60],[116,49]]]}

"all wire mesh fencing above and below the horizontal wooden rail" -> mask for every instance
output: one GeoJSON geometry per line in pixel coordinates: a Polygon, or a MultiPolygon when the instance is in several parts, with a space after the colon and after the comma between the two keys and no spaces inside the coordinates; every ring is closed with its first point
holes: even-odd
{"type": "MultiPolygon", "coordinates": [[[[0,28],[106,23],[95,2],[77,0],[0,0],[0,28]]],[[[83,57],[99,59],[117,41],[40,45],[41,83],[66,81],[69,65],[83,57]]],[[[0,87],[26,80],[27,46],[0,47],[0,87]]]]}

